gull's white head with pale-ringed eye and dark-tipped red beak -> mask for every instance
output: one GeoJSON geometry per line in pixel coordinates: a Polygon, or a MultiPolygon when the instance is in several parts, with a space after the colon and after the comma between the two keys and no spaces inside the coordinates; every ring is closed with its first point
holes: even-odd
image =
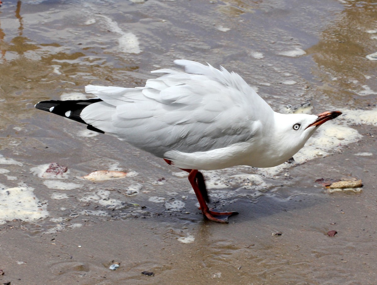
{"type": "Polygon", "coordinates": [[[318,115],[275,113],[272,143],[280,153],[291,157],[303,147],[320,125],[341,114],[340,111],[326,111],[318,115]]]}

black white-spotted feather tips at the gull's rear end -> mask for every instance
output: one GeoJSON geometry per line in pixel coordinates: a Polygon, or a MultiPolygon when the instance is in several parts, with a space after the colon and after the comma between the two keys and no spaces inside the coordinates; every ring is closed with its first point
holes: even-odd
{"type": "Polygon", "coordinates": [[[50,100],[50,101],[41,101],[35,104],[35,108],[43,111],[48,111],[59,116],[63,116],[69,118],[71,120],[77,121],[79,123],[83,123],[87,125],[87,129],[104,133],[104,131],[93,127],[90,124],[87,124],[80,116],[81,111],[89,106],[90,104],[97,103],[102,101],[99,98],[93,98],[88,100],[67,100],[67,101],[59,101],[59,100],[50,100]]]}

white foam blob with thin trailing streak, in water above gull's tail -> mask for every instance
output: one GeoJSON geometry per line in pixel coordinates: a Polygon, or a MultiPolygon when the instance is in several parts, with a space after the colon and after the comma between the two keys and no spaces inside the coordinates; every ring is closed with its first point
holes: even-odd
{"type": "Polygon", "coordinates": [[[97,15],[106,20],[107,25],[109,26],[110,31],[115,32],[120,35],[118,38],[119,50],[128,54],[139,54],[141,52],[139,40],[135,34],[132,32],[124,32],[119,26],[118,23],[106,17],[104,15],[97,15]]]}

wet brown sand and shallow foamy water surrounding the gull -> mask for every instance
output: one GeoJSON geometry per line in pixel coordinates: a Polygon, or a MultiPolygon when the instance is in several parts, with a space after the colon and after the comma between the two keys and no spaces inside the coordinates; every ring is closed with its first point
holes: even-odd
{"type": "Polygon", "coordinates": [[[135,2],[0,8],[0,281],[374,284],[375,3],[135,2]],[[238,72],[280,112],[344,115],[295,164],[205,172],[212,205],[240,213],[219,225],[203,221],[185,173],[33,107],[87,96],[87,84],[142,86],[176,58],[238,72]],[[64,179],[40,177],[51,162],[64,179]],[[133,175],[80,179],[95,170],[133,175]],[[314,182],[350,177],[361,193],[314,182]]]}

